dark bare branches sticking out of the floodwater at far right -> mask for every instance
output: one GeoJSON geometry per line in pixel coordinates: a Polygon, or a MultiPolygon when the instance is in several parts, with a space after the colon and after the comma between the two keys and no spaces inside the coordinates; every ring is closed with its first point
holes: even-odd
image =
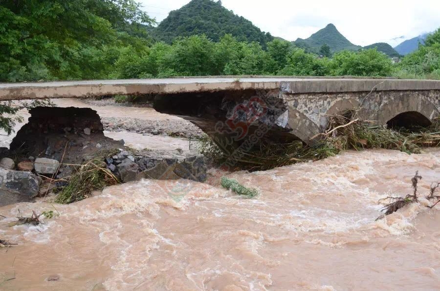
{"type": "MultiPolygon", "coordinates": [[[[386,215],[392,214],[396,212],[398,209],[403,208],[407,205],[410,205],[412,203],[418,203],[419,202],[419,196],[418,196],[418,182],[422,179],[422,177],[418,174],[418,171],[414,175],[413,178],[411,178],[411,183],[413,187],[413,193],[408,194],[405,197],[386,197],[383,199],[380,199],[379,202],[388,200],[390,201],[389,204],[385,205],[381,211],[384,212],[381,216],[377,217],[376,220],[384,218],[386,215]]],[[[431,201],[433,199],[437,200],[434,204],[430,206],[426,206],[427,208],[433,208],[440,202],[440,196],[435,195],[435,191],[440,186],[440,183],[434,183],[431,184],[431,189],[429,191],[429,194],[425,196],[425,198],[428,201],[431,201]]]]}

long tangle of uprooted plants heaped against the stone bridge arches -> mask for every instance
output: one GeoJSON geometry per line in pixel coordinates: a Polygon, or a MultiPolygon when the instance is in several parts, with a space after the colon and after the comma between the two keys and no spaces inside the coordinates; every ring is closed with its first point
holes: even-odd
{"type": "Polygon", "coordinates": [[[326,130],[312,139],[315,142],[307,145],[300,140],[280,144],[262,138],[258,146],[247,152],[236,149],[232,155],[226,154],[207,135],[198,138],[198,143],[199,151],[216,164],[232,159],[237,161],[236,169],[266,170],[324,159],[347,149],[385,148],[408,154],[421,153],[423,146],[440,145],[440,118],[428,127],[395,129],[375,121],[362,120],[356,110],[350,110],[330,116],[326,130]]]}

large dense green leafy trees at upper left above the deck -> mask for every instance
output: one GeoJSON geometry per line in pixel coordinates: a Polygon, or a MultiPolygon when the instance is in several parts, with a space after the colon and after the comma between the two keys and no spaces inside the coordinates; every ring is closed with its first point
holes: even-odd
{"type": "Polygon", "coordinates": [[[105,68],[85,58],[137,21],[154,22],[134,0],[0,0],[0,81],[93,78],[105,68]]]}

